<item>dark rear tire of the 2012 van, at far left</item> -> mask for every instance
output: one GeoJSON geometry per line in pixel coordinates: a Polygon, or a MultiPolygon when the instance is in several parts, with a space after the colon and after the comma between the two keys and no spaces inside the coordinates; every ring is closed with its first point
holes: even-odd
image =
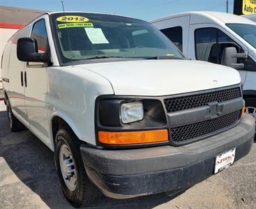
{"type": "Polygon", "coordinates": [[[8,122],[10,125],[10,130],[12,132],[20,132],[22,130],[25,130],[26,127],[13,115],[12,108],[10,107],[10,101],[6,101],[6,110],[7,110],[7,116],[8,116],[8,122]]]}

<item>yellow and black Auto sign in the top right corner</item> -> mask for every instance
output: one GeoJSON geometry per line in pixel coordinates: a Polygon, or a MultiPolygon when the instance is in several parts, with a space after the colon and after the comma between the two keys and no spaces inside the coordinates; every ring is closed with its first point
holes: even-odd
{"type": "Polygon", "coordinates": [[[256,0],[234,0],[234,14],[248,15],[256,13],[256,0]]]}

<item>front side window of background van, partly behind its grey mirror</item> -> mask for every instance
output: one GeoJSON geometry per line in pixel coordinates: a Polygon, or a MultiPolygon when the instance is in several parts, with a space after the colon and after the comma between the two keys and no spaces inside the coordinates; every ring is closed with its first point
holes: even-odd
{"type": "Polygon", "coordinates": [[[216,28],[195,30],[195,54],[197,60],[221,64],[225,47],[235,47],[236,52],[242,49],[223,31],[216,28]]]}

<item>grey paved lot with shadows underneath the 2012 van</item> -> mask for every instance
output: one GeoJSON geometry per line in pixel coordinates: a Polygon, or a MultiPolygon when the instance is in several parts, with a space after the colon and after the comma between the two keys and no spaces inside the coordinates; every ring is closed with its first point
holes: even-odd
{"type": "MultiPolygon", "coordinates": [[[[12,133],[0,111],[0,208],[72,208],[64,199],[52,152],[31,132],[12,133]]],[[[256,208],[256,144],[229,169],[171,199],[157,194],[103,198],[91,208],[256,208]]]]}

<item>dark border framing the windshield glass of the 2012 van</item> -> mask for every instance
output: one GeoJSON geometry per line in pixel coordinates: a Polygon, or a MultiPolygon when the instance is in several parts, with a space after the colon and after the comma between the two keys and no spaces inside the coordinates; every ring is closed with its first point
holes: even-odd
{"type": "MultiPolygon", "coordinates": [[[[59,60],[59,65],[61,66],[68,66],[68,65],[80,65],[80,64],[84,64],[84,63],[106,63],[106,62],[118,62],[118,61],[138,61],[138,60],[144,60],[146,58],[143,57],[110,57],[107,59],[79,59],[79,60],[72,60],[72,59],[67,59],[64,55],[63,52],[61,51],[61,45],[59,42],[59,37],[57,34],[57,26],[56,26],[56,19],[57,17],[61,17],[61,16],[66,16],[66,15],[82,15],[82,16],[86,16],[86,15],[103,15],[103,16],[107,16],[107,17],[120,17],[120,18],[126,18],[127,20],[132,20],[132,21],[137,21],[137,22],[144,22],[145,24],[150,24],[151,26],[153,26],[153,24],[151,24],[150,22],[146,22],[144,20],[138,20],[132,17],[123,17],[123,16],[119,16],[119,15],[107,15],[107,14],[99,14],[99,13],[83,13],[83,12],[65,12],[65,13],[52,13],[49,15],[50,17],[50,28],[52,31],[52,38],[54,40],[54,47],[56,49],[56,53],[57,53],[57,57],[59,60]],[[69,60],[66,62],[63,62],[63,60],[69,60]]],[[[153,26],[154,28],[156,28],[155,26],[153,26]]],[[[156,30],[158,30],[156,28],[156,30]]],[[[160,31],[159,31],[160,32],[160,31]]],[[[161,32],[160,32],[161,33],[161,32]]],[[[162,35],[161,35],[162,36],[162,35]]],[[[171,47],[173,47],[177,53],[179,53],[180,57],[177,56],[170,56],[170,59],[185,59],[185,56],[183,55],[182,52],[180,52],[180,50],[174,45],[174,43],[167,38],[164,34],[163,34],[163,38],[165,38],[165,41],[169,42],[171,47]]]]}

